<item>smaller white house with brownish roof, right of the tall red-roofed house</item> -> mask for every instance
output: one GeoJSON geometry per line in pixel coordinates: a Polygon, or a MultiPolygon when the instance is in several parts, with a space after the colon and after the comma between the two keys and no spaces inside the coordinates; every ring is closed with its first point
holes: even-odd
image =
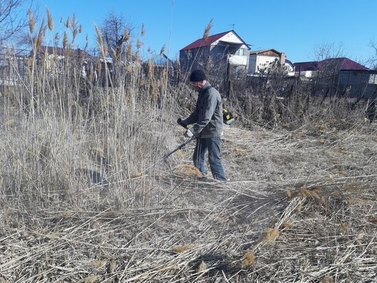
{"type": "Polygon", "coordinates": [[[291,61],[287,60],[284,52],[275,49],[263,49],[250,52],[249,74],[265,73],[272,67],[284,66],[287,73],[294,71],[291,61]]]}

